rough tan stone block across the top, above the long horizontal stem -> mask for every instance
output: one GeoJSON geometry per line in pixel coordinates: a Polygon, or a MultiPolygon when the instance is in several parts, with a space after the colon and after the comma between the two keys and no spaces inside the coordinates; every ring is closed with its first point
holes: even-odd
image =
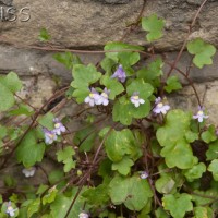
{"type": "MultiPolygon", "coordinates": [[[[107,41],[120,40],[128,25],[134,22],[144,0],[14,0],[16,21],[0,22],[1,40],[20,46],[38,44],[41,27],[52,36],[52,44],[61,47],[101,47],[107,41]],[[26,15],[21,9],[27,7],[31,20],[22,22],[26,15]]],[[[178,49],[198,9],[198,0],[147,0],[143,15],[157,13],[166,20],[165,37],[155,43],[164,50],[178,49]]],[[[208,0],[201,12],[192,37],[201,36],[218,45],[218,1],[208,0]]],[[[191,38],[192,38],[191,37],[191,38]]],[[[145,45],[145,33],[141,28],[129,34],[126,41],[145,45]]]]}

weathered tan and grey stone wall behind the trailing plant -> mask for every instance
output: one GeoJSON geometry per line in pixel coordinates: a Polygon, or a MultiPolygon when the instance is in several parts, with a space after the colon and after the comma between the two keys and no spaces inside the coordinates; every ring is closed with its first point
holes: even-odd
{"type": "MultiPolygon", "coordinates": [[[[35,106],[40,106],[56,88],[53,75],[68,83],[71,72],[52,59],[53,52],[31,47],[40,46],[38,34],[41,27],[52,36],[52,47],[71,49],[101,49],[107,41],[120,40],[147,46],[145,33],[140,27],[129,33],[130,25],[141,13],[157,13],[166,20],[165,36],[154,44],[158,52],[174,60],[189,25],[203,0],[0,0],[0,73],[17,72],[25,81],[26,95],[35,106]],[[10,7],[16,8],[15,15],[7,13],[10,7]],[[22,9],[25,9],[22,11],[22,9]],[[28,15],[31,19],[26,22],[28,15]],[[10,22],[7,20],[15,21],[10,22]]],[[[202,37],[218,46],[218,1],[208,0],[203,8],[190,39],[202,37]]],[[[81,55],[85,63],[97,63],[101,55],[81,55]]],[[[191,77],[196,83],[199,96],[208,106],[210,120],[215,123],[218,116],[217,83],[218,56],[214,65],[203,70],[193,68],[191,77]]],[[[185,69],[190,56],[184,52],[180,63],[185,69]]],[[[167,71],[167,68],[165,69],[167,71]]],[[[185,87],[171,100],[177,107],[196,107],[193,90],[185,87]]]]}

